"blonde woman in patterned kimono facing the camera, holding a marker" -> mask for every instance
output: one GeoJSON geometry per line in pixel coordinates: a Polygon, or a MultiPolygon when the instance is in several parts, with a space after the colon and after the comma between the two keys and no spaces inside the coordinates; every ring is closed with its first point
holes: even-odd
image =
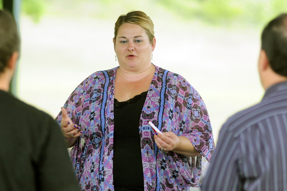
{"type": "Polygon", "coordinates": [[[144,12],[121,15],[113,38],[119,67],[86,78],[56,118],[82,190],[189,190],[198,186],[201,156],[212,156],[200,95],[151,63],[153,28],[144,12]]]}

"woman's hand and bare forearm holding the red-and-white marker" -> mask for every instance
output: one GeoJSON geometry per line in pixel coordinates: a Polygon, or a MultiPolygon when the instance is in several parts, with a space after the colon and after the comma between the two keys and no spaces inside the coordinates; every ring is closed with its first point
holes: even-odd
{"type": "Polygon", "coordinates": [[[163,132],[154,134],[154,141],[161,151],[173,151],[188,157],[200,155],[193,144],[184,136],[177,136],[173,132],[163,132]]]}

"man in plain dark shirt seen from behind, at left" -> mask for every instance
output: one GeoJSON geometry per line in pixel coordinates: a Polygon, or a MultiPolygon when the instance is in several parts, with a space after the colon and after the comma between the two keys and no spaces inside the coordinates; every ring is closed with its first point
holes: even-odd
{"type": "Polygon", "coordinates": [[[19,49],[16,23],[0,10],[0,190],[80,190],[57,123],[8,93],[19,49]]]}

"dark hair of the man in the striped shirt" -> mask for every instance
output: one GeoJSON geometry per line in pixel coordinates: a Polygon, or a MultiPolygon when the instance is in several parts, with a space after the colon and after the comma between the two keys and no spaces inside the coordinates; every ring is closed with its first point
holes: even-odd
{"type": "Polygon", "coordinates": [[[287,76],[287,13],[270,21],[261,36],[262,50],[265,50],[274,72],[287,76]]]}

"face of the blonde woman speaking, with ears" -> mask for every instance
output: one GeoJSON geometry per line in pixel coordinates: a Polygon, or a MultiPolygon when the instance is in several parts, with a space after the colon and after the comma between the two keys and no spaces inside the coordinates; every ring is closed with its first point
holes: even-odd
{"type": "Polygon", "coordinates": [[[139,71],[151,65],[151,55],[155,48],[155,38],[150,43],[144,28],[137,24],[124,23],[119,27],[114,41],[119,65],[128,71],[139,71]]]}

